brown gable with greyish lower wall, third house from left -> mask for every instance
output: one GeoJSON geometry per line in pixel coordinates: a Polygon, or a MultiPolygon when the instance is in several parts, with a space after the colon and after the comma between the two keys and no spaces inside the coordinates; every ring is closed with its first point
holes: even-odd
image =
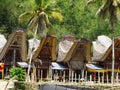
{"type": "Polygon", "coordinates": [[[80,39],[74,42],[64,61],[72,69],[83,69],[85,63],[91,60],[91,42],[80,39]]]}

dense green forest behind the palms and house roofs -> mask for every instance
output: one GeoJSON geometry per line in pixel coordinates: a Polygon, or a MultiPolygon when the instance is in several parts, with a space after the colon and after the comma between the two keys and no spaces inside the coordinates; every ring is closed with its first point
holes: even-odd
{"type": "MultiPolygon", "coordinates": [[[[25,11],[31,10],[33,0],[0,0],[0,33],[6,37],[16,28],[27,29],[27,23],[19,23],[19,16],[25,11]]],[[[111,37],[112,31],[109,21],[99,21],[95,13],[101,2],[96,6],[86,7],[87,0],[54,0],[56,8],[60,9],[63,21],[49,18],[53,25],[57,38],[63,34],[75,34],[77,38],[95,40],[98,35],[111,37]]],[[[120,22],[115,26],[115,36],[120,36],[120,22]]],[[[27,31],[28,38],[32,37],[32,32],[27,31]]]]}

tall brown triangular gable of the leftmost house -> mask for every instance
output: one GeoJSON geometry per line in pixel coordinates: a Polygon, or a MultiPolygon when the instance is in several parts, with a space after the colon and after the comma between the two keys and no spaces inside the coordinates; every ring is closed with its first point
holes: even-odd
{"type": "Polygon", "coordinates": [[[16,61],[26,61],[26,32],[22,29],[18,29],[10,34],[7,43],[0,53],[0,60],[13,60],[13,52],[16,49],[16,61]]]}

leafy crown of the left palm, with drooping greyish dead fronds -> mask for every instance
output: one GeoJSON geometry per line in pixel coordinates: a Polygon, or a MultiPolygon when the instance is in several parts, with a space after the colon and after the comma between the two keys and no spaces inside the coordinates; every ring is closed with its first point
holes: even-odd
{"type": "Polygon", "coordinates": [[[28,29],[34,30],[36,33],[42,33],[45,36],[47,28],[52,27],[48,18],[56,18],[62,21],[60,10],[56,8],[55,0],[30,0],[32,7],[30,11],[26,11],[19,16],[19,21],[23,22],[28,20],[28,29]]]}

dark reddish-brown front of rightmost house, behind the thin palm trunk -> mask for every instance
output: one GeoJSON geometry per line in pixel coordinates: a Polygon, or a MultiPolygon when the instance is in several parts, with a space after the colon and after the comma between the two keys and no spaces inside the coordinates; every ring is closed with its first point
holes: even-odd
{"type": "MultiPolygon", "coordinates": [[[[118,70],[120,68],[120,38],[116,38],[114,41],[114,50],[115,50],[115,69],[118,70]]],[[[112,45],[109,47],[105,55],[102,57],[99,62],[100,65],[104,67],[104,69],[112,69],[112,45]]]]}

